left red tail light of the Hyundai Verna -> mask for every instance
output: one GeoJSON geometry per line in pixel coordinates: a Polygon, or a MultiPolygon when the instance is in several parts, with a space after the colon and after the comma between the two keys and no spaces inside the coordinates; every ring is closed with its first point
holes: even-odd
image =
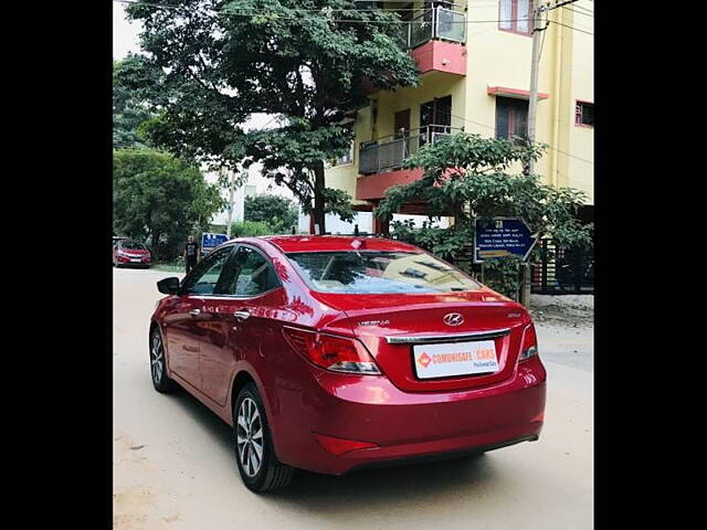
{"type": "Polygon", "coordinates": [[[313,364],[333,372],[380,375],[366,347],[356,339],[285,327],[294,350],[313,364]]]}

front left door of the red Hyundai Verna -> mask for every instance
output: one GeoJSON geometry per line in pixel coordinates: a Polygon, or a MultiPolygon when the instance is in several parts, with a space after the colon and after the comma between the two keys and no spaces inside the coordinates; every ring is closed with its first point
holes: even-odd
{"type": "Polygon", "coordinates": [[[201,350],[211,339],[209,299],[233,245],[220,248],[199,262],[182,282],[169,314],[163,318],[169,369],[194,389],[201,390],[201,350]]]}

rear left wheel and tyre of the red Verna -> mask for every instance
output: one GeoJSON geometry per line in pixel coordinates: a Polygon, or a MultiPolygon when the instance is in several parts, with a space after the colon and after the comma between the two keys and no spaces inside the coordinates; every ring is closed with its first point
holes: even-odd
{"type": "Polygon", "coordinates": [[[295,469],[275,456],[265,407],[253,383],[243,386],[233,406],[233,448],[243,484],[251,491],[261,494],[289,485],[295,469]]]}

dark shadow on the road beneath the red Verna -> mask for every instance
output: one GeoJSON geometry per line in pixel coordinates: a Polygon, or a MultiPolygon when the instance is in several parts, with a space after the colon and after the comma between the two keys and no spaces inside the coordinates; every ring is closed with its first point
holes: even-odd
{"type": "MultiPolygon", "coordinates": [[[[210,437],[214,451],[235,458],[231,449],[231,427],[209,409],[180,390],[172,396],[210,437]]],[[[235,460],[233,473],[238,475],[235,460]]],[[[466,502],[469,496],[495,489],[498,473],[494,457],[485,454],[354,471],[344,477],[299,470],[289,488],[262,498],[276,505],[313,510],[321,516],[360,510],[405,509],[414,502],[466,502]]]]}

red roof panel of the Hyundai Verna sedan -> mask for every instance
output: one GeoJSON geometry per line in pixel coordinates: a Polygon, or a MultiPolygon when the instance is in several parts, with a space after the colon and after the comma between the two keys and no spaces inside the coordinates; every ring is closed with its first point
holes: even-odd
{"type": "Polygon", "coordinates": [[[401,241],[369,236],[345,235],[268,235],[265,240],[283,252],[334,252],[334,251],[402,251],[420,252],[416,246],[401,241]]]}

